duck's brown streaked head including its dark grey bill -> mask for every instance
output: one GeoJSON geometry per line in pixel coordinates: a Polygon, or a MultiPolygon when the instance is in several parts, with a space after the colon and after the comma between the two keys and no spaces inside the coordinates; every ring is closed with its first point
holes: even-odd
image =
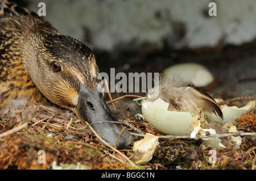
{"type": "MultiPolygon", "coordinates": [[[[23,65],[40,92],[51,102],[72,110],[85,124],[117,121],[97,89],[99,73],[96,57],[86,45],[69,36],[44,33],[42,42],[27,37],[23,48],[23,65]],[[32,47],[31,47],[32,46],[32,47]]],[[[115,146],[121,124],[93,124],[94,130],[115,146]]],[[[118,138],[117,149],[131,142],[125,129],[118,138]]]]}

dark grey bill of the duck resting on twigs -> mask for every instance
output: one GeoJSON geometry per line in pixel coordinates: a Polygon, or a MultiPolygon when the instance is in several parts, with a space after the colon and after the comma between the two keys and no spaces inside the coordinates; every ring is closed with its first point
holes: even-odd
{"type": "MultiPolygon", "coordinates": [[[[98,92],[97,86],[94,91],[86,89],[84,85],[80,86],[79,100],[75,112],[83,123],[85,121],[89,124],[101,121],[117,121],[112,111],[106,106],[103,95],[98,92]]],[[[100,134],[101,138],[112,146],[115,146],[118,139],[117,149],[125,148],[132,141],[132,136],[126,129],[119,136],[123,127],[118,121],[117,123],[92,124],[92,127],[100,134]]]]}

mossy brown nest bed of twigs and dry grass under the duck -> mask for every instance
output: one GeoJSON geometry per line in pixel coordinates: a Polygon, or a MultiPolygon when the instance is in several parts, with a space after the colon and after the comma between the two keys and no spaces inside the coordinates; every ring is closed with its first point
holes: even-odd
{"type": "MultiPolygon", "coordinates": [[[[243,137],[240,149],[231,144],[216,150],[217,162],[212,164],[209,151],[213,148],[200,140],[164,137],[143,117],[135,116],[141,112],[137,106],[132,99],[119,100],[115,108],[110,105],[119,121],[134,135],[133,142],[119,153],[102,144],[71,111],[26,102],[18,109],[6,107],[0,120],[0,169],[54,169],[54,165],[65,164],[83,166],[81,169],[254,169],[255,137],[243,137]],[[143,133],[162,138],[151,161],[134,167],[127,158],[133,160],[133,144],[143,133]],[[39,163],[39,150],[45,151],[46,163],[39,163]]],[[[255,111],[237,119],[238,129],[248,131],[241,122],[248,120],[255,122],[255,111]]],[[[250,131],[255,131],[254,122],[250,131]]]]}

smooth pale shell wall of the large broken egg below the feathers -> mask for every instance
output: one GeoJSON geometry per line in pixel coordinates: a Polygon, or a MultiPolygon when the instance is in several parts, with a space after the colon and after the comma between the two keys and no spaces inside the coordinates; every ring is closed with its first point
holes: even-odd
{"type": "Polygon", "coordinates": [[[195,120],[189,112],[168,111],[169,104],[158,98],[154,102],[144,100],[142,113],[145,119],[164,134],[190,135],[195,120]]]}

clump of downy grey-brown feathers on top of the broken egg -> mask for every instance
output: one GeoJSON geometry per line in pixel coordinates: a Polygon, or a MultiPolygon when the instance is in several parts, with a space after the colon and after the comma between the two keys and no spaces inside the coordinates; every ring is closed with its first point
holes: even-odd
{"type": "Polygon", "coordinates": [[[169,103],[169,111],[190,112],[192,115],[203,111],[207,117],[214,114],[223,119],[220,107],[209,94],[180,77],[168,80],[160,77],[155,80],[155,87],[148,91],[147,96],[152,100],[160,98],[169,103]]]}

